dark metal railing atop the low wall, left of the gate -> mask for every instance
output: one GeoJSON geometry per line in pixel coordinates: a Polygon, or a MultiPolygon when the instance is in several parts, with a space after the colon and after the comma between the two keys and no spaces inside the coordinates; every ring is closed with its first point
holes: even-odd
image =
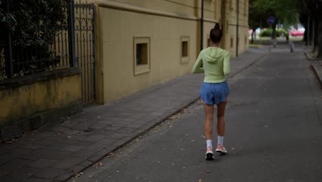
{"type": "MultiPolygon", "coordinates": [[[[69,27],[67,19],[71,16],[72,7],[68,7],[67,0],[62,8],[65,12],[65,22],[52,22],[56,26],[54,30],[47,30],[44,20],[41,19],[41,10],[28,14],[25,17],[32,26],[39,27],[36,32],[24,30],[26,26],[21,17],[17,20],[16,30],[8,26],[8,23],[1,22],[0,35],[0,80],[12,77],[23,77],[34,74],[65,68],[72,65],[72,55],[69,54],[71,39],[69,39],[69,27]],[[2,33],[3,32],[3,33],[2,33]],[[54,32],[54,33],[53,33],[54,32]],[[26,38],[27,37],[27,38],[26,38]]],[[[2,1],[1,10],[3,14],[11,14],[14,4],[10,0],[2,1]]],[[[50,21],[50,20],[48,20],[50,21]]]]}

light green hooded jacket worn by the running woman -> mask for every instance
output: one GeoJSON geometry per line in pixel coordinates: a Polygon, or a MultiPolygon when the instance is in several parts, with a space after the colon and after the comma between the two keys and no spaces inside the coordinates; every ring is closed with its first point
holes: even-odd
{"type": "Polygon", "coordinates": [[[230,74],[230,54],[217,47],[208,47],[202,50],[193,66],[193,73],[204,72],[204,82],[222,83],[230,74]],[[201,65],[203,68],[200,68],[201,65]]]}

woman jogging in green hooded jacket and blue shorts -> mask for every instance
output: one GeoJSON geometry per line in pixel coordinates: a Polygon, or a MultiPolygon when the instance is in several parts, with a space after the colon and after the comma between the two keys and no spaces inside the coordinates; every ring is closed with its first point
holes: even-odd
{"type": "Polygon", "coordinates": [[[217,148],[215,152],[227,153],[224,148],[225,109],[229,88],[226,76],[230,74],[230,54],[219,48],[222,30],[219,23],[210,31],[211,47],[202,50],[193,66],[193,73],[204,72],[204,83],[200,89],[200,99],[206,112],[204,134],[206,136],[206,160],[213,160],[213,105],[217,105],[217,148]],[[203,65],[203,68],[200,66],[203,65]]]}

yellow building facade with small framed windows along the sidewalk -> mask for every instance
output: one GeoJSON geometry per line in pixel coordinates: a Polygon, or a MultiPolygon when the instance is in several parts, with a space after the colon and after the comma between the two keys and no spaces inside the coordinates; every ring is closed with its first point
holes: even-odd
{"type": "MultiPolygon", "coordinates": [[[[200,52],[202,0],[92,2],[97,103],[191,72],[200,52]]],[[[247,50],[248,0],[204,0],[203,12],[203,48],[210,45],[209,31],[218,22],[224,31],[222,48],[232,57],[247,50]]]]}

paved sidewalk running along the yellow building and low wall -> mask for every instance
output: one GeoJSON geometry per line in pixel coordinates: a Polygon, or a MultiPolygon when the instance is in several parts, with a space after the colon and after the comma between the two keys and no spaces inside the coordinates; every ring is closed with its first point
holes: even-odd
{"type": "MultiPolygon", "coordinates": [[[[231,60],[233,77],[268,50],[231,60]]],[[[0,144],[0,181],[66,181],[198,99],[203,74],[189,74],[107,105],[94,105],[8,144],[0,144]]]]}

